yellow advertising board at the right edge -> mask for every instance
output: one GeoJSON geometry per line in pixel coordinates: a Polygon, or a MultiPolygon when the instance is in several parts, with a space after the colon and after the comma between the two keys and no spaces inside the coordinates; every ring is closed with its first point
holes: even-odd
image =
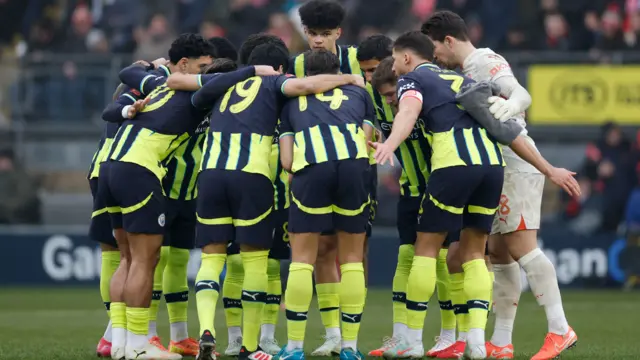
{"type": "Polygon", "coordinates": [[[640,66],[533,65],[532,124],[640,125],[640,66]]]}

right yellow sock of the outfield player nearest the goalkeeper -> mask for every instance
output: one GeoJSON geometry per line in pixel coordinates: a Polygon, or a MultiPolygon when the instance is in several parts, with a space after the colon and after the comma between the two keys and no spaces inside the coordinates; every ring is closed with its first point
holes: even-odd
{"type": "Polygon", "coordinates": [[[469,329],[484,330],[491,299],[491,276],[484,259],[462,264],[464,269],[464,294],[469,308],[469,329]]]}

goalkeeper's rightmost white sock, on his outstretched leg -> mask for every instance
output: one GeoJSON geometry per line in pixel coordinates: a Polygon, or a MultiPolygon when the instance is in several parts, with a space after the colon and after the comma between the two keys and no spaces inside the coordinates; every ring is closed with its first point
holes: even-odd
{"type": "Polygon", "coordinates": [[[569,331],[569,323],[562,307],[562,296],[558,287],[556,269],[540,250],[535,249],[518,260],[527,274],[531,292],[547,314],[549,332],[564,335],[569,331]]]}

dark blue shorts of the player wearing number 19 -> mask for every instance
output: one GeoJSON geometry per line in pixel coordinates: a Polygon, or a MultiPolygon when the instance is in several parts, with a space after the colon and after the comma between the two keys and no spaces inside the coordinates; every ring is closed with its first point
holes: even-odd
{"type": "Polygon", "coordinates": [[[207,169],[198,175],[196,245],[273,242],[273,184],[264,175],[207,169]]]}

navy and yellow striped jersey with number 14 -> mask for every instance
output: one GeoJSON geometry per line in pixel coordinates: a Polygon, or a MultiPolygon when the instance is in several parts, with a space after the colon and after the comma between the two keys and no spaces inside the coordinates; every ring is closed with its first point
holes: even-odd
{"type": "Polygon", "coordinates": [[[292,172],[309,164],[368,158],[363,125],[373,127],[367,92],[354,85],[290,100],[280,118],[280,137],[294,136],[292,172]]]}

